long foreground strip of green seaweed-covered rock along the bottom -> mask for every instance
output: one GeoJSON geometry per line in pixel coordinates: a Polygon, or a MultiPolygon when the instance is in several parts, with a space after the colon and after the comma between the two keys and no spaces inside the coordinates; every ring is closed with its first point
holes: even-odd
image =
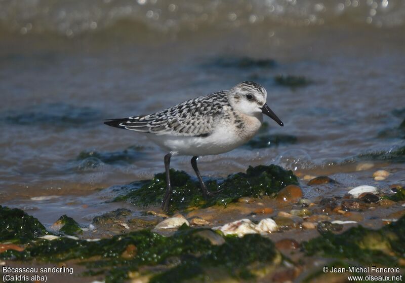
{"type": "Polygon", "coordinates": [[[0,258],[45,262],[82,259],[89,269],[87,274],[104,274],[106,282],[114,283],[136,276],[147,276],[150,282],[255,278],[269,274],[281,262],[270,239],[260,235],[237,238],[215,234],[224,241],[217,244],[201,236],[207,233],[204,231],[215,233],[209,229],[183,228],[171,237],[142,230],[98,241],[39,239],[22,252],[9,250],[0,254],[0,258]],[[156,265],[159,272],[151,268],[152,271],[148,268],[139,271],[140,267],[156,265]]]}

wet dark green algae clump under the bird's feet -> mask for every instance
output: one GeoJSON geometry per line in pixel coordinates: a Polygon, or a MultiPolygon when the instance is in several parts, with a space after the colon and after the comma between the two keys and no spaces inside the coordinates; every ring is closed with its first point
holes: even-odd
{"type": "MultiPolygon", "coordinates": [[[[190,206],[227,205],[240,197],[274,196],[288,185],[298,185],[298,178],[291,170],[277,165],[249,166],[246,173],[229,175],[222,183],[215,180],[206,182],[212,192],[218,191],[207,200],[203,198],[197,181],[184,171],[170,170],[172,199],[170,210],[185,209],[190,206]]],[[[115,201],[128,200],[139,206],[158,204],[166,190],[166,174],[159,173],[152,180],[135,188],[128,194],[115,198],[115,201]]]]}

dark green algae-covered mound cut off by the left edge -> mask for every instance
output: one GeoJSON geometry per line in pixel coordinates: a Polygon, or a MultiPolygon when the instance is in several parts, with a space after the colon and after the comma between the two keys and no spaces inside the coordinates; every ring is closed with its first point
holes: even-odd
{"type": "Polygon", "coordinates": [[[0,242],[26,243],[47,235],[44,225],[18,208],[0,205],[0,242]]]}

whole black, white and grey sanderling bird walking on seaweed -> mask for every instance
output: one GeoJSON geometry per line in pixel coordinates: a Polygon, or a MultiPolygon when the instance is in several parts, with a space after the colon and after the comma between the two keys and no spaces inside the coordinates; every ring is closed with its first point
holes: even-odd
{"type": "Polygon", "coordinates": [[[198,156],[231,151],[249,141],[259,130],[263,114],[284,124],[266,104],[267,92],[255,82],[242,82],[222,90],[187,100],[149,115],[106,120],[104,124],[145,134],[169,152],[165,155],[166,192],[161,207],[168,210],[172,188],[170,158],[191,155],[191,166],[206,198],[207,190],[197,167],[198,156]]]}

